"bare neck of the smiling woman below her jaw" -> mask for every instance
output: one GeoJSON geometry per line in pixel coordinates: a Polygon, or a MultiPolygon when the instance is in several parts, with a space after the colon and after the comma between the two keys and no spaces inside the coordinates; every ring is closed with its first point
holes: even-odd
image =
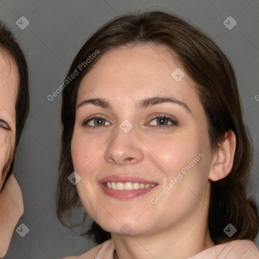
{"type": "MultiPolygon", "coordinates": [[[[208,194],[208,193],[207,193],[208,194]]],[[[119,259],[171,258],[187,259],[214,246],[208,229],[208,199],[198,204],[184,222],[146,236],[121,236],[112,233],[112,240],[119,259]]]]}

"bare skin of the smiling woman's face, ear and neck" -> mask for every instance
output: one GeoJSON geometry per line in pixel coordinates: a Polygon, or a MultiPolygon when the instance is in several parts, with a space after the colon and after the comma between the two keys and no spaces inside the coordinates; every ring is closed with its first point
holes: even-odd
{"type": "Polygon", "coordinates": [[[81,177],[76,186],[90,216],[111,233],[120,259],[183,259],[215,245],[207,226],[209,180],[229,174],[235,135],[227,133],[218,150],[211,152],[206,116],[194,82],[187,75],[179,82],[171,76],[178,67],[184,71],[162,46],[123,47],[104,54],[80,84],[77,105],[85,99],[105,98],[112,107],[77,107],[71,143],[74,170],[81,177]],[[149,97],[175,98],[190,111],[168,102],[136,107],[149,97]],[[159,127],[155,117],[161,114],[177,119],[178,124],[165,122],[164,128],[159,127]],[[104,117],[105,125],[83,126],[92,115],[104,117]],[[125,119],[133,125],[128,133],[119,128],[125,119]],[[203,157],[191,170],[151,204],[199,153],[203,157]],[[137,176],[158,186],[133,199],[115,199],[98,185],[110,175],[137,176]],[[121,232],[124,224],[131,228],[128,235],[121,232]]]}

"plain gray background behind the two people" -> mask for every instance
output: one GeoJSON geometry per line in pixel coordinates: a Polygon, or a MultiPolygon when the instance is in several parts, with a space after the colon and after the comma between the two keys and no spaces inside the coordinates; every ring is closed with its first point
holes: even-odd
{"type": "MultiPolygon", "coordinates": [[[[53,101],[48,101],[47,96],[63,82],[74,56],[90,34],[114,16],[137,9],[159,9],[183,16],[210,35],[229,57],[237,75],[244,119],[254,142],[249,193],[258,204],[257,0],[3,0],[0,19],[11,27],[26,53],[31,93],[30,114],[14,168],[25,205],[17,226],[24,223],[30,232],[24,238],[14,232],[6,258],[61,258],[95,246],[92,240],[63,227],[55,214],[61,94],[53,101]],[[29,21],[24,30],[16,25],[21,16],[29,21]],[[237,21],[231,30],[223,24],[229,16],[237,21]]],[[[258,247],[258,237],[255,242],[258,247]]]]}

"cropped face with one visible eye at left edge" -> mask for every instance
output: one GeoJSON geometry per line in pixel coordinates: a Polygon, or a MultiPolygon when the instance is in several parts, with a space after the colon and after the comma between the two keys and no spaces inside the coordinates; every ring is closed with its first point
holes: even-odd
{"type": "Polygon", "coordinates": [[[0,190],[2,190],[15,146],[18,72],[15,63],[1,51],[0,68],[0,190]]]}

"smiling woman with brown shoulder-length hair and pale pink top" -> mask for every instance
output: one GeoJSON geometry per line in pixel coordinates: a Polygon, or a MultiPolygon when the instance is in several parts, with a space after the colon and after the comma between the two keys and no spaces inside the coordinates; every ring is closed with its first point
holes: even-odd
{"type": "Polygon", "coordinates": [[[83,205],[100,245],[69,258],[258,258],[252,151],[224,53],[164,12],[108,22],[68,75],[96,49],[62,93],[57,212],[64,223],[83,205]]]}

